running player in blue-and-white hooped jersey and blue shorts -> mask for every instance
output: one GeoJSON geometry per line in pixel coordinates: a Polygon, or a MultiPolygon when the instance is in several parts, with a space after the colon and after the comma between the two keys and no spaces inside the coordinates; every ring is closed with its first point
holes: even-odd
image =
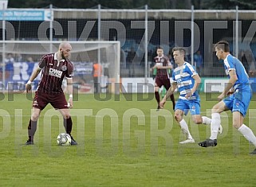
{"type": "MultiPolygon", "coordinates": [[[[181,144],[194,143],[195,140],[191,136],[191,133],[187,127],[186,121],[183,119],[183,115],[187,115],[188,110],[191,111],[193,122],[196,124],[211,124],[211,119],[206,116],[200,115],[200,98],[197,88],[201,83],[199,74],[195,71],[195,68],[184,60],[186,54],[185,49],[177,47],[172,49],[175,64],[177,68],[172,72],[173,83],[171,88],[167,91],[167,94],[160,102],[160,107],[163,107],[166,99],[173,95],[175,89],[178,87],[180,93],[179,100],[175,104],[175,120],[179,123],[181,131],[186,135],[187,139],[181,144]]],[[[220,126],[219,132],[222,133],[222,127],[220,126]]]]}

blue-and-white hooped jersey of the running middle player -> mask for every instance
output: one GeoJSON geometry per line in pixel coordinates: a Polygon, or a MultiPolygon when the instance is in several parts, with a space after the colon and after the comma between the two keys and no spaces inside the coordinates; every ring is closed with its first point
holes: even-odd
{"type": "MultiPolygon", "coordinates": [[[[195,67],[185,62],[182,66],[177,67],[172,72],[172,80],[177,83],[179,90],[179,99],[186,99],[187,92],[191,92],[194,87],[195,80],[193,76],[198,73],[195,71],[195,67]]],[[[199,92],[195,92],[190,99],[199,99],[199,92]]]]}

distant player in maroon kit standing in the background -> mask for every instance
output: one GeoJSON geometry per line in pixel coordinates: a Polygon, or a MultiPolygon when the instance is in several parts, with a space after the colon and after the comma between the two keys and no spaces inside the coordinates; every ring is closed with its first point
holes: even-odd
{"type": "MultiPolygon", "coordinates": [[[[151,71],[154,70],[154,69],[157,70],[156,80],[155,80],[155,97],[156,97],[156,101],[158,103],[157,110],[159,110],[160,109],[159,90],[162,86],[164,86],[164,88],[166,90],[168,90],[171,87],[168,70],[171,70],[172,65],[171,65],[171,62],[168,59],[168,57],[163,55],[163,48],[162,47],[158,47],[156,49],[156,53],[157,53],[157,56],[154,58],[156,64],[154,65],[154,67],[151,68],[151,71]]],[[[174,110],[175,109],[174,95],[171,95],[171,102],[172,102],[172,107],[173,107],[173,110],[174,110]]]]}

